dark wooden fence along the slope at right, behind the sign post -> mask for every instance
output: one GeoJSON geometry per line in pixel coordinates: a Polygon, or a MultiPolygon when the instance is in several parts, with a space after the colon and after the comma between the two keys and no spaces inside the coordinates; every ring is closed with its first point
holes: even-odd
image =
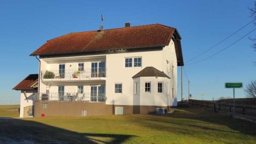
{"type": "MultiPolygon", "coordinates": [[[[210,100],[189,100],[189,106],[195,106],[196,108],[207,108],[216,113],[233,113],[234,105],[225,104],[224,102],[216,102],[210,100]]],[[[236,104],[236,114],[246,116],[256,116],[256,106],[236,104]]]]}

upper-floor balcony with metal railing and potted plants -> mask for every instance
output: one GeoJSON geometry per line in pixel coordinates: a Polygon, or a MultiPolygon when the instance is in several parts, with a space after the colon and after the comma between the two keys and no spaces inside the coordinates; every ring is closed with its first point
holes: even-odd
{"type": "Polygon", "coordinates": [[[106,68],[41,70],[42,81],[106,80],[106,68]]]}

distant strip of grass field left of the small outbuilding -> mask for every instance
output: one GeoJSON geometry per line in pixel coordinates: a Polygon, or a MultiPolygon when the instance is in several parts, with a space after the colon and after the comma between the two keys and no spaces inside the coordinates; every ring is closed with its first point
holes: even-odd
{"type": "Polygon", "coordinates": [[[0,105],[0,117],[19,117],[20,105],[0,105]]]}

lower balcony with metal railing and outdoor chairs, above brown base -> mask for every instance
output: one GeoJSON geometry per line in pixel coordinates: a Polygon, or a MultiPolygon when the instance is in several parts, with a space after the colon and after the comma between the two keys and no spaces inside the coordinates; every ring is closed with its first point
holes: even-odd
{"type": "Polygon", "coordinates": [[[65,102],[105,102],[105,93],[40,93],[38,100],[65,102]]]}

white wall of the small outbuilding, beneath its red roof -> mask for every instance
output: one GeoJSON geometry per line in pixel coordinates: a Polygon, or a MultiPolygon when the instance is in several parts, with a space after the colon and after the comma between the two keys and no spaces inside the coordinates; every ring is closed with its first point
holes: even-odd
{"type": "Polygon", "coordinates": [[[33,90],[26,91],[28,99],[26,99],[24,95],[24,91],[22,90],[20,93],[20,118],[24,117],[24,108],[27,106],[34,106],[33,97],[36,95],[33,90]]]}

